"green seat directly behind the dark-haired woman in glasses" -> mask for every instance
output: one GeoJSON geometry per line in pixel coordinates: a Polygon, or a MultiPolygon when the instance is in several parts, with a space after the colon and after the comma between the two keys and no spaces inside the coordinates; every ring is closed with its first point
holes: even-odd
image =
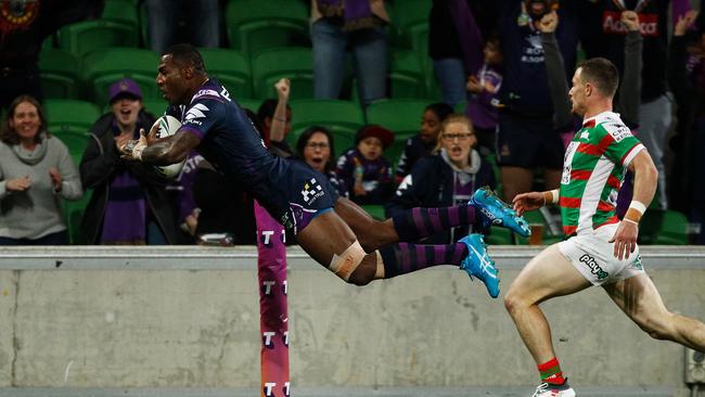
{"type": "Polygon", "coordinates": [[[313,125],[328,128],[333,135],[335,157],[352,146],[355,133],[364,125],[360,106],[339,100],[298,100],[291,103],[292,132],[286,137],[292,146],[296,145],[302,132],[313,125]]]}

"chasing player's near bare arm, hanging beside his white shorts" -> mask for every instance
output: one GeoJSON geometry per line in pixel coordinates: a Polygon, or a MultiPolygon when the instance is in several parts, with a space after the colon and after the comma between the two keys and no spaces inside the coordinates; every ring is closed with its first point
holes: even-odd
{"type": "Polygon", "coordinates": [[[658,171],[649,152],[641,151],[629,163],[629,170],[634,174],[634,190],[625,219],[610,242],[614,242],[614,256],[623,259],[633,253],[637,248],[639,236],[639,220],[656,193],[658,171]]]}

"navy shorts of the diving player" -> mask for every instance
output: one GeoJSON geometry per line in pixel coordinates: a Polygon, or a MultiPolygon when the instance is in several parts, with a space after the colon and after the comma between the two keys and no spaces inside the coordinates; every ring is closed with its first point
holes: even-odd
{"type": "Polygon", "coordinates": [[[286,192],[284,196],[287,197],[287,203],[279,221],[297,234],[318,215],[333,208],[338,194],[328,177],[305,163],[293,161],[290,165],[289,178],[280,180],[279,188],[286,192]]]}

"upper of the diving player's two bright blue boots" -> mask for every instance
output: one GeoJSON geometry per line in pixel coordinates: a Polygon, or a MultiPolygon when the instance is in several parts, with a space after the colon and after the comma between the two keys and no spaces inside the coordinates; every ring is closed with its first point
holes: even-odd
{"type": "Polygon", "coordinates": [[[529,228],[526,219],[516,215],[516,212],[499,200],[489,188],[477,189],[470,198],[469,204],[475,207],[475,214],[477,214],[483,229],[490,226],[500,226],[511,229],[525,238],[531,235],[531,228],[529,228]]]}

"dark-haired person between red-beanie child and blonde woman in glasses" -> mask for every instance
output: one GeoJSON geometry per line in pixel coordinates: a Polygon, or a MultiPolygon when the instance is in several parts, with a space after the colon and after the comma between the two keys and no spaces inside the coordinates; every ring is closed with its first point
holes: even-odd
{"type": "Polygon", "coordinates": [[[419,158],[427,156],[436,148],[440,125],[451,113],[453,113],[452,106],[445,102],[432,103],[426,106],[421,117],[419,135],[407,140],[401,157],[399,157],[395,176],[397,184],[401,183],[403,177],[411,171],[419,158]]]}

